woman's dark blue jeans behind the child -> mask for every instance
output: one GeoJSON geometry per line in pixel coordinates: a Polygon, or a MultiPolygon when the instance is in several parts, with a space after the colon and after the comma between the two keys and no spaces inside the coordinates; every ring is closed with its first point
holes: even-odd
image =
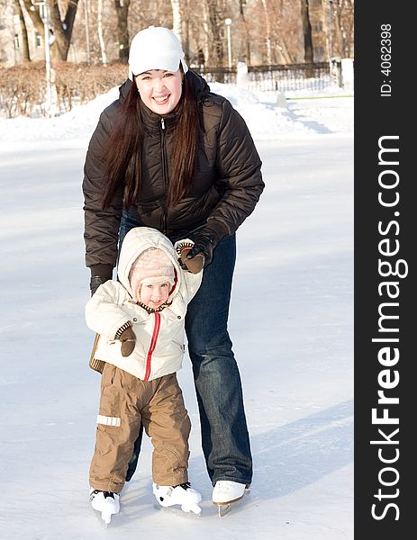
{"type": "MultiPolygon", "coordinates": [[[[123,214],[119,245],[128,230],[137,226],[141,223],[123,214]]],[[[181,238],[170,239],[174,242],[181,238]]],[[[227,331],[235,259],[236,238],[223,238],[214,249],[212,263],[204,268],[203,282],[186,313],[186,337],[200,412],[203,452],[213,485],[218,480],[246,484],[252,480],[240,374],[227,331]]],[[[136,468],[141,435],[135,444],[127,480],[136,468]]]]}

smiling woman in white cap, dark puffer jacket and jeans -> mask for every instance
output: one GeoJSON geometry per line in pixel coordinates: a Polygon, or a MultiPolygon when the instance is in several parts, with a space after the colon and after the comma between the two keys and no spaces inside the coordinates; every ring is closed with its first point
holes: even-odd
{"type": "Polygon", "coordinates": [[[204,278],[188,307],[186,336],[213,502],[222,504],[240,499],[252,480],[227,320],[235,231],[264,188],[261,161],[239,113],[188,69],[172,31],[140,31],[129,67],[130,78],[102,112],[86,154],[90,288],[95,293],[112,278],[117,242],[133,227],[159,229],[173,242],[194,240],[187,258],[204,257],[204,278]]]}

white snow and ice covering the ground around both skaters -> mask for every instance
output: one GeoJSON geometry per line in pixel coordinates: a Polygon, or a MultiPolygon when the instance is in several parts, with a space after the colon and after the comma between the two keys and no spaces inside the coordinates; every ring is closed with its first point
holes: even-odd
{"type": "Polygon", "coordinates": [[[102,530],[87,499],[99,375],[84,306],[81,178],[98,115],[117,89],[46,119],[0,121],[3,268],[0,527],[7,540],[104,534],[201,540],[353,538],[353,97],[337,89],[250,94],[212,85],[249,124],[267,188],[238,232],[230,331],[254,480],[224,518],[211,503],[189,360],[189,473],[201,518],[154,507],[150,442],[102,530]],[[291,98],[291,99],[290,99],[291,98]]]}

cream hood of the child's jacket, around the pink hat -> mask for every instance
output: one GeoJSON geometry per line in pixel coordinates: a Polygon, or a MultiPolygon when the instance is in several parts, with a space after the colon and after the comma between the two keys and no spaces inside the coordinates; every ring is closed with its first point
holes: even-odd
{"type": "Polygon", "coordinates": [[[117,266],[119,281],[131,297],[133,297],[131,284],[129,282],[131,266],[135,260],[140,257],[144,251],[150,249],[150,247],[156,247],[163,251],[174,266],[177,279],[176,284],[171,288],[169,293],[168,302],[171,302],[181,286],[182,273],[180,271],[174,246],[169,239],[157,229],[135,227],[126,234],[122,242],[119,265],[117,266]]]}

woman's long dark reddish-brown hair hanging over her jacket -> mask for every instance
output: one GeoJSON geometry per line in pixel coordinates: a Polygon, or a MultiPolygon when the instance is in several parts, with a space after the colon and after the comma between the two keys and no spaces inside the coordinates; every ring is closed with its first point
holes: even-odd
{"type": "MultiPolygon", "coordinates": [[[[122,189],[122,201],[129,208],[141,192],[141,158],[145,130],[138,87],[133,76],[131,89],[116,114],[113,130],[104,146],[106,183],[102,198],[103,210],[122,189]]],[[[199,105],[195,88],[183,76],[183,91],[176,107],[174,146],[168,166],[167,204],[174,206],[187,193],[195,179],[200,132],[199,105]]]]}

